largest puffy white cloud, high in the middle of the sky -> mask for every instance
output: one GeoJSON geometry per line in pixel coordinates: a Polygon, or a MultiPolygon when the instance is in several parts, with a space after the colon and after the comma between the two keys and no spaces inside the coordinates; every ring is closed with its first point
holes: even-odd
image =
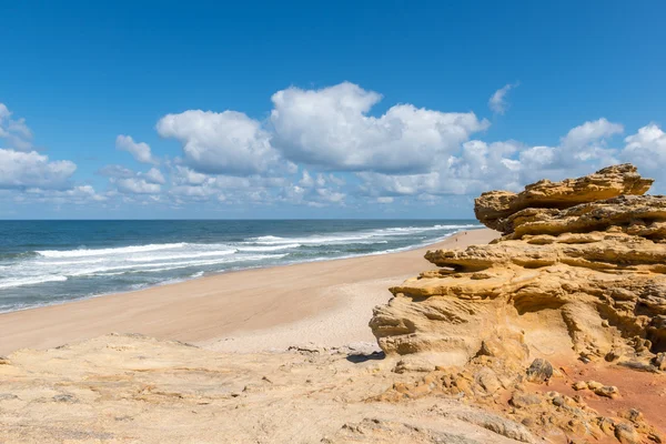
{"type": "Polygon", "coordinates": [[[473,112],[447,113],[397,104],[369,115],[381,95],[353,83],[273,94],[273,143],[294,162],[329,170],[427,171],[488,122],[473,112]]]}

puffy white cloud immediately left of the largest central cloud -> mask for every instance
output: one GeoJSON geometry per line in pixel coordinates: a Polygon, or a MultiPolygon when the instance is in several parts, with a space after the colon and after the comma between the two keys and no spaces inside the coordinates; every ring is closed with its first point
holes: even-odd
{"type": "Polygon", "coordinates": [[[250,175],[280,167],[261,123],[242,112],[190,110],[164,115],[157,125],[163,138],[175,138],[185,162],[202,173],[250,175]]]}

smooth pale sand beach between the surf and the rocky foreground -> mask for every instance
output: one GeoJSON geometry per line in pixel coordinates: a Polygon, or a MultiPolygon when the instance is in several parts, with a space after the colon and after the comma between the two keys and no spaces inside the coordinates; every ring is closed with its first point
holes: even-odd
{"type": "Polygon", "coordinates": [[[0,314],[0,355],[107,333],[141,333],[225,352],[374,343],[372,309],[428,265],[427,250],[487,243],[471,230],[398,253],[246,270],[142,291],[0,314]]]}

